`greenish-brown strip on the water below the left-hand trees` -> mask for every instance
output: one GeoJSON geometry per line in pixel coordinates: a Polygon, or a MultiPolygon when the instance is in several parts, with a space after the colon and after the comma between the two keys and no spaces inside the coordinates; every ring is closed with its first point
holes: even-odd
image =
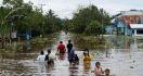
{"type": "Polygon", "coordinates": [[[44,37],[36,37],[30,40],[21,40],[21,41],[13,41],[12,43],[8,43],[4,49],[1,50],[6,51],[8,53],[13,52],[36,52],[39,50],[42,50],[46,47],[52,47],[52,45],[55,42],[55,39],[57,37],[57,34],[51,34],[47,35],[44,37]]]}

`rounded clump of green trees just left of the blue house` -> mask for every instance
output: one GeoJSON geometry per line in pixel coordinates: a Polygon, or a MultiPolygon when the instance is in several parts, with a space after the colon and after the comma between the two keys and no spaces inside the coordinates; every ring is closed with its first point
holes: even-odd
{"type": "Polygon", "coordinates": [[[64,28],[69,31],[99,36],[105,33],[104,26],[108,25],[110,17],[103,9],[95,5],[80,8],[72,20],[65,20],[64,28]]]}

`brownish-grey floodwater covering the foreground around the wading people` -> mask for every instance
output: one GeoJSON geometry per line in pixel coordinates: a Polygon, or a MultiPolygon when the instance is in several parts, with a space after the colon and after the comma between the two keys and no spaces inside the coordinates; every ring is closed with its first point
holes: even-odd
{"type": "MultiPolygon", "coordinates": [[[[143,50],[138,48],[142,45],[142,40],[133,37],[104,36],[105,43],[102,42],[104,47],[94,48],[94,42],[90,45],[81,41],[80,46],[76,45],[78,37],[74,38],[74,36],[61,31],[51,47],[52,52],[55,53],[60,40],[66,45],[67,40],[72,39],[74,49],[80,58],[79,65],[74,68],[69,68],[67,54],[56,55],[55,64],[47,65],[36,61],[38,52],[15,53],[11,59],[1,58],[0,76],[94,76],[92,71],[94,71],[95,62],[101,62],[103,69],[109,68],[110,75],[114,76],[143,76],[143,50]],[[89,48],[92,55],[91,67],[88,69],[82,62],[82,49],[84,48],[89,48]]],[[[46,54],[47,49],[49,47],[43,48],[46,54]]]]}

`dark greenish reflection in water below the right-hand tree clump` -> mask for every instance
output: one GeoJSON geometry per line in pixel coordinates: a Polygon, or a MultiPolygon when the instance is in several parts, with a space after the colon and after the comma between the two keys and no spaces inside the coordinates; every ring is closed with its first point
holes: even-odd
{"type": "Polygon", "coordinates": [[[93,36],[74,36],[74,45],[79,49],[83,50],[84,48],[89,49],[103,49],[105,48],[106,41],[102,37],[93,36]]]}

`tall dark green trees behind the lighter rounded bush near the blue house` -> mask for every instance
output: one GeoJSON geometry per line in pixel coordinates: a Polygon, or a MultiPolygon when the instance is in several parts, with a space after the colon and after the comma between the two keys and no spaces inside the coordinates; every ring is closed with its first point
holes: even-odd
{"type": "MultiPolygon", "coordinates": [[[[74,13],[74,17],[72,18],[72,22],[69,22],[72,25],[70,29],[75,33],[84,33],[84,31],[91,31],[90,24],[92,21],[95,21],[100,26],[102,26],[102,29],[104,31],[104,26],[109,24],[109,16],[103,9],[98,9],[95,5],[90,5],[88,8],[81,8],[78,12],[74,13]],[[88,29],[87,29],[88,27],[88,29]]],[[[93,23],[93,22],[92,22],[93,23]]],[[[102,33],[103,33],[102,31],[102,33]]],[[[94,30],[95,33],[95,30],[94,30]]]]}

